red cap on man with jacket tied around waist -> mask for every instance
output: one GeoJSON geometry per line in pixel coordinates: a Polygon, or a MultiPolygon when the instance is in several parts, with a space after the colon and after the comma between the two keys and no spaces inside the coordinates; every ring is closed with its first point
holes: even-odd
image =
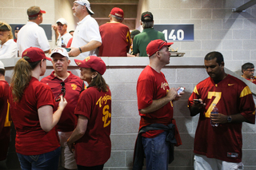
{"type": "Polygon", "coordinates": [[[170,46],[174,44],[174,42],[166,42],[161,39],[153,40],[146,46],[147,56],[150,57],[164,46],[170,46]]]}

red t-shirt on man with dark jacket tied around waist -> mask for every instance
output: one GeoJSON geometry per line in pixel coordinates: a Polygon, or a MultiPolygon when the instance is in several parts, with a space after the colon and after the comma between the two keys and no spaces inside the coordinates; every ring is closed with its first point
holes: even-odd
{"type": "MultiPolygon", "coordinates": [[[[162,97],[166,97],[167,90],[170,87],[164,74],[156,72],[154,69],[147,65],[143,69],[142,73],[138,77],[137,82],[137,97],[138,97],[138,110],[145,109],[150,106],[153,100],[158,100],[162,97]]],[[[164,105],[161,109],[154,111],[153,113],[142,114],[139,128],[154,123],[163,125],[169,125],[173,118],[173,105],[171,102],[164,105]]],[[[145,137],[157,136],[163,130],[148,131],[142,134],[145,137]]]]}

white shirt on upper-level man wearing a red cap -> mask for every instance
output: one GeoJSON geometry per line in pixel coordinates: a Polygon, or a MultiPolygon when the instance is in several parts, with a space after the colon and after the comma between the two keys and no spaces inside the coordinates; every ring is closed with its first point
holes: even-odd
{"type": "Polygon", "coordinates": [[[22,52],[30,46],[38,47],[43,51],[50,49],[45,30],[35,22],[27,22],[25,26],[22,26],[18,31],[17,44],[20,57],[22,57],[22,52]]]}

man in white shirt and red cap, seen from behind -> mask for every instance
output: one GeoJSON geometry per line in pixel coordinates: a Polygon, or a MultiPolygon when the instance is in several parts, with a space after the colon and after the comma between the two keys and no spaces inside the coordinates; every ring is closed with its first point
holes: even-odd
{"type": "Polygon", "coordinates": [[[31,6],[26,13],[29,21],[18,31],[19,56],[21,57],[22,52],[31,46],[42,49],[44,53],[50,53],[50,44],[46,32],[39,26],[42,23],[42,14],[46,14],[46,11],[41,10],[39,6],[31,6]]]}

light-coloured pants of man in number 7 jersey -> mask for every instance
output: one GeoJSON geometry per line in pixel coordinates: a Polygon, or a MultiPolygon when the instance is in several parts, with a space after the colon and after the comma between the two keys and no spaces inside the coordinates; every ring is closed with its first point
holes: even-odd
{"type": "Polygon", "coordinates": [[[242,162],[226,162],[215,158],[208,158],[202,155],[194,155],[194,170],[241,170],[243,169],[242,162]]]}

